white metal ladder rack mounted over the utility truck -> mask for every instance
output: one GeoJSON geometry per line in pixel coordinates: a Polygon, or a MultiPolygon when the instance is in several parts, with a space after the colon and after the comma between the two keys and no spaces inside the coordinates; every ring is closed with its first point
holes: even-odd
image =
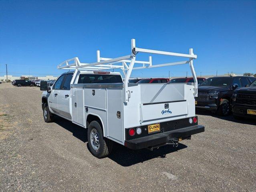
{"type": "Polygon", "coordinates": [[[156,67],[164,67],[164,66],[172,66],[172,65],[179,65],[179,64],[189,64],[191,73],[194,78],[194,96],[198,96],[198,80],[196,78],[196,72],[193,66],[193,60],[197,58],[197,55],[193,53],[193,49],[189,49],[189,54],[183,53],[175,53],[175,52],[166,52],[166,51],[159,51],[159,50],[151,50],[151,49],[143,49],[137,48],[135,46],[135,39],[131,40],[131,54],[118,57],[118,58],[104,58],[100,57],[100,51],[97,50],[97,62],[93,63],[80,63],[77,57],[66,60],[57,66],[58,69],[72,69],[75,70],[77,73],[78,70],[109,70],[114,68],[120,68],[123,70],[125,75],[124,80],[124,102],[129,101],[129,95],[127,95],[128,82],[131,76],[131,72],[133,69],[146,69],[146,68],[156,68],[156,67]],[[179,56],[189,58],[187,61],[181,62],[171,62],[171,63],[164,63],[164,64],[152,64],[152,58],[149,56],[148,61],[136,61],[136,55],[138,53],[150,53],[150,54],[161,54],[167,56],[179,56]],[[141,64],[142,66],[134,66],[134,64],[141,64]]]}

